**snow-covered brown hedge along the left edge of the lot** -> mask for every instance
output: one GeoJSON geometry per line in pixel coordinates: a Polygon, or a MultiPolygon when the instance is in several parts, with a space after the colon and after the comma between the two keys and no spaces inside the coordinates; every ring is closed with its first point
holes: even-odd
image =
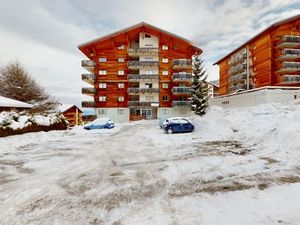
{"type": "Polygon", "coordinates": [[[30,114],[28,112],[1,112],[0,137],[28,132],[66,130],[68,122],[58,113],[30,114]]]}

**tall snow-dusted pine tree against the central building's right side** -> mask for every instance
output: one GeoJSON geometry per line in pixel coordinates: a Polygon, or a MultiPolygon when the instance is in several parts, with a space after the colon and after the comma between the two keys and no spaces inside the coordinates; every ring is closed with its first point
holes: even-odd
{"type": "Polygon", "coordinates": [[[203,116],[208,107],[208,85],[203,60],[198,55],[193,57],[193,83],[191,106],[195,114],[203,116]]]}

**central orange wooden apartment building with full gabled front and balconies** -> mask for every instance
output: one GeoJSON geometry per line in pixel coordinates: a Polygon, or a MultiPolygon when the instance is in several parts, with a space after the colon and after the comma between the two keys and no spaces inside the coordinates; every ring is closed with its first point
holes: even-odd
{"type": "Polygon", "coordinates": [[[155,119],[190,112],[192,56],[202,50],[190,41],[139,23],[78,46],[88,60],[82,93],[98,117],[115,121],[155,119]]]}

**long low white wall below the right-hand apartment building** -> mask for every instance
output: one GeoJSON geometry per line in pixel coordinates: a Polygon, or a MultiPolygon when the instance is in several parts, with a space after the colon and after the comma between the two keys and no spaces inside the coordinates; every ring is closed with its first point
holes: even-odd
{"type": "Polygon", "coordinates": [[[300,98],[300,87],[263,87],[210,99],[210,105],[249,107],[271,102],[288,102],[300,98]]]}

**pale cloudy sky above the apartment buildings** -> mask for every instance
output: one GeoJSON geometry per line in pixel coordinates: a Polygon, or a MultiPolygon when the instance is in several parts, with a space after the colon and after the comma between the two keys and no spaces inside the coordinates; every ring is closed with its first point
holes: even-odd
{"type": "Polygon", "coordinates": [[[18,60],[48,93],[81,106],[85,56],[77,46],[139,22],[196,43],[208,80],[218,59],[282,19],[300,0],[0,0],[0,66],[18,60]]]}

